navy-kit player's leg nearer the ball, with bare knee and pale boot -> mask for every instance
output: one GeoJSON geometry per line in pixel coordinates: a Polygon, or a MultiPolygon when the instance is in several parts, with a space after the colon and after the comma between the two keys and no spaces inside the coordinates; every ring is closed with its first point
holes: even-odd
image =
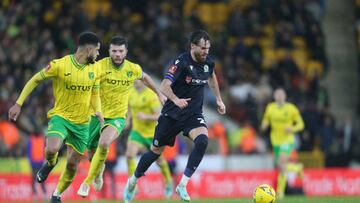
{"type": "Polygon", "coordinates": [[[208,145],[207,128],[201,126],[191,129],[189,132],[189,137],[194,141],[194,148],[189,155],[188,162],[186,164],[184,174],[181,177],[180,183],[176,187],[176,193],[178,193],[181,199],[184,201],[190,201],[190,196],[187,193],[186,186],[206,152],[208,145]]]}

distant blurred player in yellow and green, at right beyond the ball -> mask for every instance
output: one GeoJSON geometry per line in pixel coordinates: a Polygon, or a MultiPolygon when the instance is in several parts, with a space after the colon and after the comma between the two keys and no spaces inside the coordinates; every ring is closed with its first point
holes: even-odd
{"type": "Polygon", "coordinates": [[[286,102],[284,89],[276,89],[274,99],[275,102],[266,107],[261,130],[271,126],[270,140],[278,169],[276,193],[278,198],[282,198],[286,187],[286,168],[295,145],[294,133],[304,129],[304,121],[296,106],[286,102]]]}

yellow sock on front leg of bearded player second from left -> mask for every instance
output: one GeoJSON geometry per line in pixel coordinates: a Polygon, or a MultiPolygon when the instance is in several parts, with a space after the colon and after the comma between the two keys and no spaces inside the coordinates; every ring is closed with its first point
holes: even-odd
{"type": "Polygon", "coordinates": [[[108,148],[103,148],[98,146],[96,149],[96,152],[91,160],[90,169],[88,172],[87,177],[85,178],[85,183],[88,185],[91,184],[91,182],[95,179],[96,176],[99,175],[101,171],[101,167],[106,161],[107,154],[109,152],[108,148]]]}

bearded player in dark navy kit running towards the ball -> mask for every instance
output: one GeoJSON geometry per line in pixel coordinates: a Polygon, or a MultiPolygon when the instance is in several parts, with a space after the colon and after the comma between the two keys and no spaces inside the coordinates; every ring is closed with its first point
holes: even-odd
{"type": "Polygon", "coordinates": [[[207,83],[216,96],[218,112],[226,112],[214,72],[214,61],[208,56],[209,35],[203,30],[193,32],[190,46],[190,51],[181,54],[170,66],[160,85],[161,92],[168,100],[158,119],[151,151],[140,158],[134,175],[129,177],[125,186],[125,202],[133,199],[137,180],[159,158],[166,145],[174,145],[175,137],[181,131],[193,140],[195,146],[176,193],[182,200],[190,201],[186,185],[199,166],[208,144],[208,131],[202,115],[204,87],[207,83]]]}

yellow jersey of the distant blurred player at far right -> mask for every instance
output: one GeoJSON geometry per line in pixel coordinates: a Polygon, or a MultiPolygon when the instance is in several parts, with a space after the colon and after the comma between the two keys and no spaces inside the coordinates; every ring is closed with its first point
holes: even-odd
{"type": "Polygon", "coordinates": [[[270,139],[272,145],[294,143],[294,133],[304,128],[304,121],[299,110],[291,103],[283,106],[272,102],[267,105],[262,122],[267,122],[271,126],[270,139]],[[291,127],[291,133],[286,133],[286,128],[291,127]]]}

